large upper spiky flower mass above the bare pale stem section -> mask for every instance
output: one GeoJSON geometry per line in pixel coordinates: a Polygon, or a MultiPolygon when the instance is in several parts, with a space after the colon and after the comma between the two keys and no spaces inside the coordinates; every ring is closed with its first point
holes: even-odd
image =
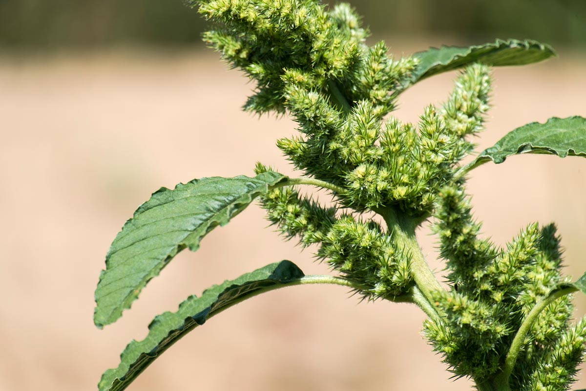
{"type": "Polygon", "coordinates": [[[220,27],[210,45],[257,81],[246,110],[288,110],[301,135],[278,146],[298,169],[345,188],[343,205],[392,207],[431,215],[437,192],[469,151],[488,107],[485,66],[461,75],[442,110],[428,107],[418,127],[383,116],[409,83],[416,60],[394,60],[349,6],[326,11],[314,0],[216,0],[199,11],[220,27]]]}

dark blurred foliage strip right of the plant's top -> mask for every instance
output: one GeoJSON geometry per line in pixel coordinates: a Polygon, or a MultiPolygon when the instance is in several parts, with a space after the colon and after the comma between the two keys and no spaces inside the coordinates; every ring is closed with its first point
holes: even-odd
{"type": "Polygon", "coordinates": [[[532,38],[556,46],[586,45],[583,0],[369,0],[353,6],[373,32],[438,33],[471,42],[532,38]]]}

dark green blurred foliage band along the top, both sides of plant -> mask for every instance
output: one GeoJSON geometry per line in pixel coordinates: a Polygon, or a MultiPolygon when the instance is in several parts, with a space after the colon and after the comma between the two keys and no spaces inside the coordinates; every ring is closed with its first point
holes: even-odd
{"type": "MultiPolygon", "coordinates": [[[[586,46],[584,0],[353,0],[375,35],[438,34],[462,43],[532,38],[586,46]]],[[[331,4],[334,1],[330,1],[331,4]]],[[[0,45],[200,43],[205,22],[182,0],[0,0],[0,45]]]]}

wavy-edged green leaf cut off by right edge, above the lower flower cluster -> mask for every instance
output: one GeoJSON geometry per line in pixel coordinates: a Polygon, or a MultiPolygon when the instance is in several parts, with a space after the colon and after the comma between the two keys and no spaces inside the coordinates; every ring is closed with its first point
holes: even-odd
{"type": "Polygon", "coordinates": [[[499,164],[516,154],[586,156],[586,118],[553,117],[544,124],[534,122],[516,128],[485,149],[476,161],[481,164],[492,160],[499,164]]]}

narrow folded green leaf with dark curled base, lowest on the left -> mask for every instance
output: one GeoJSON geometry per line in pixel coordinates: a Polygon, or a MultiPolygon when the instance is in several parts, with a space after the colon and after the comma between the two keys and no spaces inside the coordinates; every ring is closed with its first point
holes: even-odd
{"type": "Polygon", "coordinates": [[[102,375],[99,390],[124,390],[161,353],[213,315],[254,295],[295,284],[302,277],[301,269],[285,260],[214,285],[199,298],[187,298],[177,312],[158,315],[148,327],[147,338],[128,344],[120,355],[118,368],[108,369],[102,375]]]}

